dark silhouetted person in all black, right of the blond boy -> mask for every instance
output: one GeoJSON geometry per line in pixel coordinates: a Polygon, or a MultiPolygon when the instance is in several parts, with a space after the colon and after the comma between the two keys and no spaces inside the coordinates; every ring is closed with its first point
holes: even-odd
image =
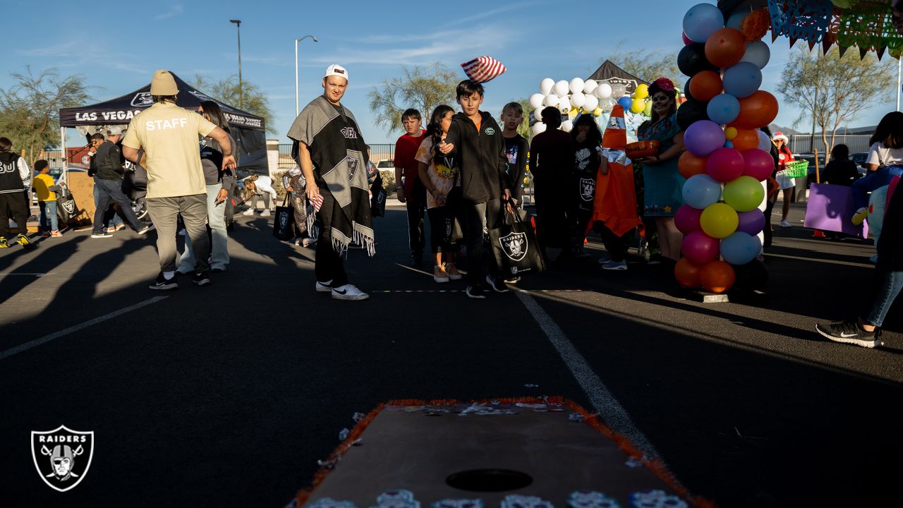
{"type": "Polygon", "coordinates": [[[530,172],[534,177],[536,240],[545,249],[560,249],[556,261],[572,258],[568,212],[575,193],[571,186],[574,145],[570,134],[559,130],[562,114],[549,106],[541,112],[545,131],[530,144],[530,172]]]}

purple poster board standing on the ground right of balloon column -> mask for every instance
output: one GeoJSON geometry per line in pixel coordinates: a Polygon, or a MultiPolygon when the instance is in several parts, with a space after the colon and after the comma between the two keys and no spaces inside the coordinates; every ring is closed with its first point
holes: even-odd
{"type": "Polygon", "coordinates": [[[850,187],[813,183],[809,187],[809,200],[805,205],[804,225],[814,230],[835,231],[858,238],[868,238],[869,226],[866,222],[862,222],[859,226],[851,222],[854,212],[856,211],[853,210],[850,187]]]}

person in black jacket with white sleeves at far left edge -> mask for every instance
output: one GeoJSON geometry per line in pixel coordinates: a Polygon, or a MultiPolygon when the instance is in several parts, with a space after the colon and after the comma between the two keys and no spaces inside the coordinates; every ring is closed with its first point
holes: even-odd
{"type": "Polygon", "coordinates": [[[22,194],[31,182],[25,159],[13,153],[13,142],[8,137],[0,137],[0,249],[9,247],[10,240],[33,248],[28,240],[28,201],[22,194]],[[9,227],[9,220],[15,221],[15,230],[9,227]],[[13,238],[15,235],[15,238],[13,238]]]}

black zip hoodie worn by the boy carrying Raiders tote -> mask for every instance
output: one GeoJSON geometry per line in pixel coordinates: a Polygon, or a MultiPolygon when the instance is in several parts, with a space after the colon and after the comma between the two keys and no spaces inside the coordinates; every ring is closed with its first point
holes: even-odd
{"type": "MultiPolygon", "coordinates": [[[[492,115],[480,111],[482,120],[477,132],[473,120],[464,113],[452,117],[446,143],[454,150],[449,155],[458,158],[461,168],[461,193],[464,201],[479,204],[501,199],[503,189],[511,189],[507,174],[507,155],[502,129],[492,115]]],[[[436,146],[436,153],[439,147],[436,146]]]]}

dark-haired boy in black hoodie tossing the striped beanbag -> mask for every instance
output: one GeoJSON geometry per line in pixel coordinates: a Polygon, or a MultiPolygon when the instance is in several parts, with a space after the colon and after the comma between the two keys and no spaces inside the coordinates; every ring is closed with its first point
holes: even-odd
{"type": "Polygon", "coordinates": [[[483,92],[483,85],[473,80],[458,83],[456,95],[461,113],[452,117],[444,143],[437,146],[442,155],[457,157],[461,168],[467,296],[471,298],[485,298],[486,284],[498,293],[507,292],[494,259],[485,263],[488,273],[483,270],[483,225],[490,230],[497,227],[502,202],[510,199],[512,187],[502,129],[492,115],[479,110],[483,92]]]}

